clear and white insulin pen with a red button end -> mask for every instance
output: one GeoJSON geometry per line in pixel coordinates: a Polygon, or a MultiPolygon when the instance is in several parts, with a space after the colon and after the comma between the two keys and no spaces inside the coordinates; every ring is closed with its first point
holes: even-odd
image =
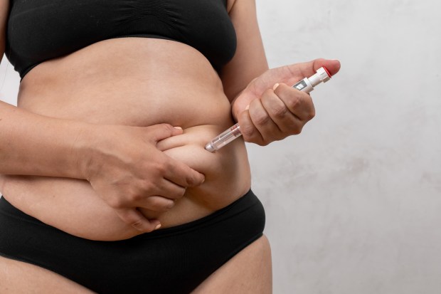
{"type": "MultiPolygon", "coordinates": [[[[309,93],[314,90],[316,85],[319,85],[319,83],[322,82],[326,83],[330,78],[331,74],[329,71],[325,67],[322,67],[317,70],[317,73],[314,73],[314,75],[310,76],[309,78],[300,80],[299,83],[293,85],[292,88],[309,93]]],[[[218,135],[218,137],[208,142],[207,145],[205,145],[205,149],[209,152],[215,152],[241,135],[242,133],[240,132],[240,125],[237,123],[228,130],[225,130],[225,132],[223,132],[221,135],[218,135]]]]}

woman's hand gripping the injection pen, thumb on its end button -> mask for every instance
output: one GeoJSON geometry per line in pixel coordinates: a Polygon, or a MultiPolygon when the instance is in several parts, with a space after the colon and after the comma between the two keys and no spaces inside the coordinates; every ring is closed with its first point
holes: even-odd
{"type": "Polygon", "coordinates": [[[322,66],[335,75],[340,62],[316,59],[270,69],[255,78],[233,101],[233,116],[239,122],[244,140],[268,145],[299,134],[314,117],[314,104],[309,94],[289,85],[313,75],[322,66]]]}

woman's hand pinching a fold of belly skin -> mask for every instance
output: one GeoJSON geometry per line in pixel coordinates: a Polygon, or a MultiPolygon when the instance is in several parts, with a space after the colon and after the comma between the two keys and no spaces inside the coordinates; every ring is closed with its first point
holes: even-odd
{"type": "Polygon", "coordinates": [[[187,187],[196,187],[205,179],[156,147],[160,140],[182,132],[167,124],[97,125],[92,132],[85,132],[86,140],[80,143],[85,146],[81,148],[84,152],[77,154],[80,169],[122,221],[139,231],[154,231],[159,221],[147,219],[137,207],[168,211],[187,187]]]}

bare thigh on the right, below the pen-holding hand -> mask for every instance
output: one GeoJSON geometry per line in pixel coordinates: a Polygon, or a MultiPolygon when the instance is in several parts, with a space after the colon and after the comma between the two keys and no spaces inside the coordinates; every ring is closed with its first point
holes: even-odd
{"type": "Polygon", "coordinates": [[[272,293],[271,249],[264,235],[210,275],[193,294],[272,293]]]}

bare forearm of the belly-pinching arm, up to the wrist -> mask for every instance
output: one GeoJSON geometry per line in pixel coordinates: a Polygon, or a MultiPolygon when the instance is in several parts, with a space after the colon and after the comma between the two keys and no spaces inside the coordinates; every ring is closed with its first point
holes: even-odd
{"type": "Polygon", "coordinates": [[[84,178],[79,138],[87,126],[0,101],[0,174],[84,178]]]}

